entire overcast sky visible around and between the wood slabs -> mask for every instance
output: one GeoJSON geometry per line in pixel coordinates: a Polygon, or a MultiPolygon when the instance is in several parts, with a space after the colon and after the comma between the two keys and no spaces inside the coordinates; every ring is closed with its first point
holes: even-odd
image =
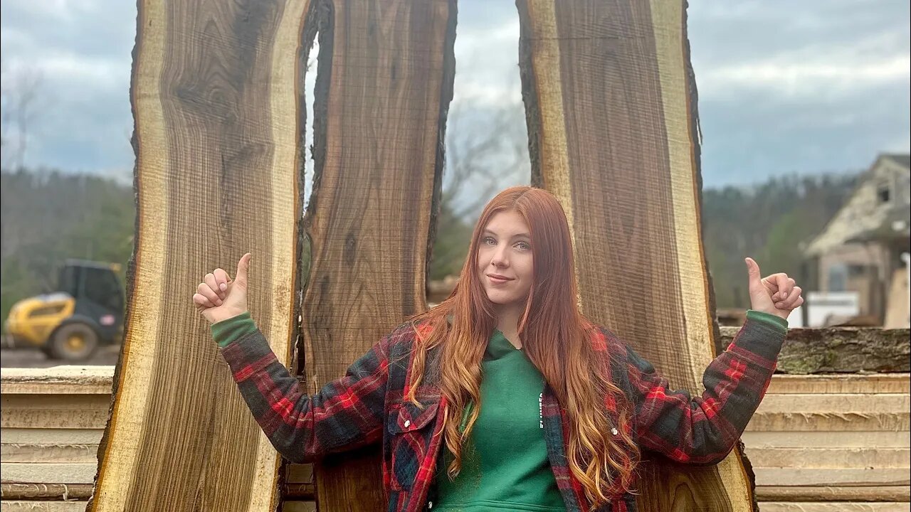
{"type": "MultiPolygon", "coordinates": [[[[458,5],[453,109],[520,102],[514,3],[458,5]]],[[[36,83],[27,166],[131,179],[135,19],[123,0],[0,4],[4,91],[36,83]]],[[[865,169],[879,152],[907,152],[908,19],[907,0],[693,0],[705,186],[865,169]]]]}

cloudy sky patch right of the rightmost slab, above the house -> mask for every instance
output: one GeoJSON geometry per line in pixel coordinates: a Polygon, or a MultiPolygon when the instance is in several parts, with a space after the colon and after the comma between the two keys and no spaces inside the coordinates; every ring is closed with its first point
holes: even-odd
{"type": "Polygon", "coordinates": [[[908,151],[908,4],[694,2],[707,185],[865,169],[908,151]]]}

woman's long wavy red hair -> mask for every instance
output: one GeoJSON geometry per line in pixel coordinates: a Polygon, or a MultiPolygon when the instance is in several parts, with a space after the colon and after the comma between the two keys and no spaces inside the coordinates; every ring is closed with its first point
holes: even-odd
{"type": "Polygon", "coordinates": [[[444,302],[413,319],[415,324],[429,328],[415,329],[408,398],[419,405],[415,389],[425,376],[426,353],[442,345],[440,391],[448,403],[444,439],[454,459],[446,473],[455,478],[462,465],[462,447],[480,411],[481,360],[496,327],[493,303],[487,299],[476,270],[478,245],[490,219],[497,212],[508,210],[516,211],[525,220],[534,261],[533,282],[518,333],[528,359],[544,375],[567,411],[569,469],[585,487],[592,504],[624,491],[633,492],[633,473],[640,454],[627,428],[630,404],[610,381],[607,362],[592,347],[596,326],[578,311],[578,285],[566,213],[546,190],[513,187],[487,203],[477,220],[455,290],[444,302]],[[613,420],[606,412],[606,402],[616,404],[613,420]],[[470,407],[467,424],[460,431],[469,403],[478,406],[470,407]],[[618,435],[610,432],[615,427],[618,435]]]}

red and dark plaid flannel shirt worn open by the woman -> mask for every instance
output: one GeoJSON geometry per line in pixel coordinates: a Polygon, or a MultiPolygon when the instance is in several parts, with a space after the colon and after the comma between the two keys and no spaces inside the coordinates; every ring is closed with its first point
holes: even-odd
{"type": "MultiPolygon", "coordinates": [[[[752,313],[752,312],[751,312],[752,313]]],[[[706,391],[692,397],[605,329],[591,333],[609,361],[615,383],[635,407],[631,434],[643,450],[690,464],[715,464],[737,443],[771,381],[787,328],[760,315],[747,322],[703,375],[706,391]]],[[[382,443],[384,488],[390,512],[432,509],[436,457],[442,447],[445,397],[427,379],[416,390],[422,407],[404,400],[415,330],[410,323],[374,343],[338,380],[317,394],[302,394],[298,380],[276,359],[257,329],[222,347],[241,395],[271,444],[302,463],[358,446],[382,443]],[[428,496],[429,495],[429,496],[428,496]]],[[[435,351],[438,352],[438,348],[435,351]]],[[[427,356],[436,374],[438,353],[427,356]]],[[[614,405],[605,401],[608,414],[614,405]]],[[[593,509],[568,468],[567,416],[549,386],[541,404],[548,458],[569,512],[632,512],[632,495],[593,509]]]]}

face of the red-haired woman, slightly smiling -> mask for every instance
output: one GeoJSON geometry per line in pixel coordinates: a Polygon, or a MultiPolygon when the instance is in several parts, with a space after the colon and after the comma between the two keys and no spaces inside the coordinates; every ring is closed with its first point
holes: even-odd
{"type": "Polygon", "coordinates": [[[534,271],[529,231],[516,211],[498,211],[481,232],[477,273],[490,302],[524,306],[534,271]]]}

